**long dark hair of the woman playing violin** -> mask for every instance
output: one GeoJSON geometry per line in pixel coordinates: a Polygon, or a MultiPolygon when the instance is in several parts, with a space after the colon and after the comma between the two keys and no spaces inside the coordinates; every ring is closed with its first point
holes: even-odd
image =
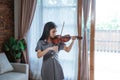
{"type": "Polygon", "coordinates": [[[50,30],[56,27],[57,26],[55,25],[54,22],[47,22],[44,26],[43,33],[40,40],[45,40],[45,39],[47,40],[48,37],[50,36],[50,30]]]}

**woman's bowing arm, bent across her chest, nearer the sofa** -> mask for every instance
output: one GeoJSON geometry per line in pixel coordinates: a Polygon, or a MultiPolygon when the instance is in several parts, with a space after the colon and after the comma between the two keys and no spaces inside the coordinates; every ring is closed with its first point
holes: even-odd
{"type": "Polygon", "coordinates": [[[58,46],[49,47],[49,48],[47,48],[43,51],[38,50],[37,51],[37,57],[40,58],[40,57],[44,56],[45,54],[48,53],[49,50],[54,50],[55,52],[57,52],[58,51],[58,46]]]}

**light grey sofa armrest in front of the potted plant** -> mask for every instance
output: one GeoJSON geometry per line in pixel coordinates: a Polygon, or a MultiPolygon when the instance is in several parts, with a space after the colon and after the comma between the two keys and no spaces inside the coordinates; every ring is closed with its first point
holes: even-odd
{"type": "Polygon", "coordinates": [[[25,74],[28,74],[29,72],[29,67],[28,64],[23,64],[23,63],[11,63],[15,72],[22,72],[25,74]]]}

